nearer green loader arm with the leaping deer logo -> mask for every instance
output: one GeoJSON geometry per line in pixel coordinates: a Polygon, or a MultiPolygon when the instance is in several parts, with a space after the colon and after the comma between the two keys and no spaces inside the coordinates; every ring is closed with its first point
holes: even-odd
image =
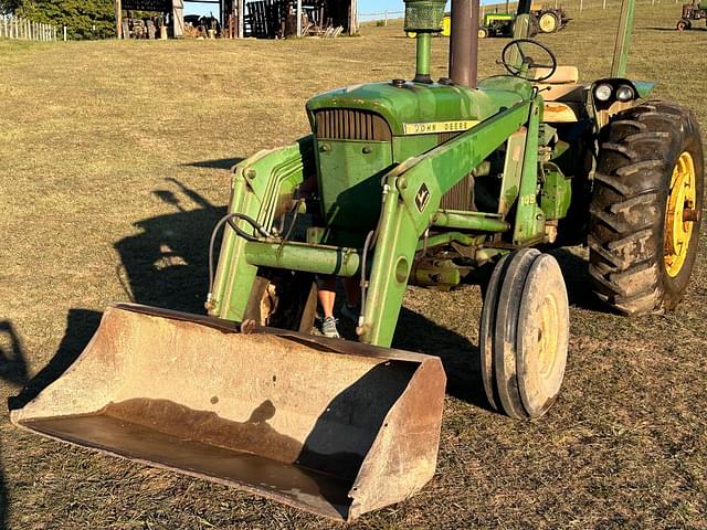
{"type": "MultiPolygon", "coordinates": [[[[359,329],[361,341],[390,346],[418,241],[434,224],[442,197],[524,126],[529,127],[527,138],[528,141],[535,141],[536,148],[525,151],[525,174],[520,188],[537,187],[538,119],[529,118],[539,112],[538,103],[528,100],[517,104],[454,140],[401,163],[386,177],[380,234],[363,324],[359,329]]],[[[527,209],[532,209],[535,213],[537,202],[520,201],[520,219],[529,218],[527,209]]],[[[534,220],[534,226],[535,223],[534,220]]],[[[526,230],[531,233],[535,227],[526,230]]]]}

